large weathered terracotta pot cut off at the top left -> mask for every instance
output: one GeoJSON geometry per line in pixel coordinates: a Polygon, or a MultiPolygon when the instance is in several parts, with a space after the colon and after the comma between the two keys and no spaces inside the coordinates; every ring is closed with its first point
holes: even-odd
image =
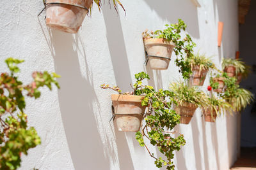
{"type": "Polygon", "coordinates": [[[59,31],[77,33],[93,0],[47,0],[46,24],[59,31]],[[60,4],[51,4],[60,3],[60,4]]]}

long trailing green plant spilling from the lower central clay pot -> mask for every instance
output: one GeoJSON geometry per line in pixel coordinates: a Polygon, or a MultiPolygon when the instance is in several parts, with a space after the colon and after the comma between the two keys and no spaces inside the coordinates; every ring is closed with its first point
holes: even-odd
{"type": "MultiPolygon", "coordinates": [[[[151,86],[142,85],[144,79],[149,79],[148,74],[144,72],[135,74],[135,78],[136,83],[132,86],[132,92],[122,93],[118,87],[109,87],[109,85],[101,85],[100,87],[102,89],[115,90],[118,92],[118,96],[123,97],[121,98],[122,104],[116,104],[116,107],[114,107],[115,114],[117,114],[116,116],[131,116],[130,111],[128,114],[126,114],[125,111],[130,109],[129,104],[134,106],[134,104],[132,104],[134,101],[131,103],[130,96],[136,97],[136,103],[140,103],[141,108],[143,108],[139,110],[143,116],[143,120],[145,120],[145,125],[141,124],[141,128],[139,128],[140,131],[136,132],[136,139],[140,143],[140,146],[145,146],[150,157],[155,159],[154,162],[157,167],[160,168],[164,165],[166,169],[174,169],[172,161],[174,157],[173,152],[180,150],[180,146],[185,145],[186,141],[181,134],[177,138],[173,138],[172,135],[172,129],[175,125],[179,124],[180,118],[180,116],[172,110],[172,103],[175,103],[173,100],[173,92],[162,89],[156,91],[151,86]],[[126,106],[127,110],[122,108],[126,106]],[[147,107],[147,111],[143,113],[145,107],[147,107]],[[122,110],[122,113],[120,114],[118,110],[122,110]],[[159,152],[163,153],[166,159],[162,159],[161,157],[157,158],[154,153],[150,152],[144,140],[149,140],[151,145],[157,146],[159,152]]],[[[112,99],[113,104],[118,101],[118,97],[112,97],[112,99]]],[[[137,107],[139,106],[136,105],[136,108],[137,107]]]]}

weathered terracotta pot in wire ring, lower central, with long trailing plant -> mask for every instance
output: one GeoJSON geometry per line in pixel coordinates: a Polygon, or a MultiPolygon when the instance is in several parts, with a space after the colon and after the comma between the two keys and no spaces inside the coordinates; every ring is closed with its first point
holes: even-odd
{"type": "Polygon", "coordinates": [[[118,131],[138,132],[147,106],[141,106],[141,96],[112,94],[118,131]]]}

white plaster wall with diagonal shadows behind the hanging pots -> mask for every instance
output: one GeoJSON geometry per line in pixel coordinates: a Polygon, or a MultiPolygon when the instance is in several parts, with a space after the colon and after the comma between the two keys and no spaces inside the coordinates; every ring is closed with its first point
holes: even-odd
{"type": "MultiPolygon", "coordinates": [[[[200,50],[220,68],[221,57],[238,50],[237,1],[202,0],[196,8],[190,0],[123,0],[126,16],[109,10],[86,17],[78,34],[54,31],[45,26],[42,1],[0,1],[0,72],[4,59],[24,59],[20,79],[31,81],[32,71],[61,74],[61,89],[42,89],[38,100],[28,99],[26,113],[42,138],[42,145],[22,156],[20,169],[157,169],[154,160],[134,139],[134,133],[118,132],[109,123],[113,93],[99,85],[118,85],[131,90],[134,74],[146,71],[149,85],[168,89],[181,78],[173,60],[166,71],[145,67],[141,32],[163,29],[182,18],[200,50]],[[223,44],[217,47],[218,21],[224,22],[223,44]]],[[[206,82],[209,81],[207,77],[206,82]]],[[[205,83],[202,89],[207,87],[205,83]]],[[[237,116],[205,123],[198,109],[189,125],[178,125],[187,143],[176,153],[180,170],[228,169],[236,160],[237,116]]],[[[155,147],[150,147],[156,151],[155,147]]],[[[157,152],[159,154],[159,152],[157,152]]],[[[162,168],[163,169],[163,168],[162,168]]]]}

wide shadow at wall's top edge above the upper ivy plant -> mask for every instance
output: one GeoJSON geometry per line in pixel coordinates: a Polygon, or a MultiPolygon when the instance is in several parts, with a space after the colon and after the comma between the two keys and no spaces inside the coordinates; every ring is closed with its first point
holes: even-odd
{"type": "Polygon", "coordinates": [[[164,20],[174,23],[177,22],[178,18],[181,18],[188,25],[189,34],[193,38],[200,38],[197,8],[191,0],[164,0],[161,3],[156,0],[147,0],[145,3],[164,20]]]}

